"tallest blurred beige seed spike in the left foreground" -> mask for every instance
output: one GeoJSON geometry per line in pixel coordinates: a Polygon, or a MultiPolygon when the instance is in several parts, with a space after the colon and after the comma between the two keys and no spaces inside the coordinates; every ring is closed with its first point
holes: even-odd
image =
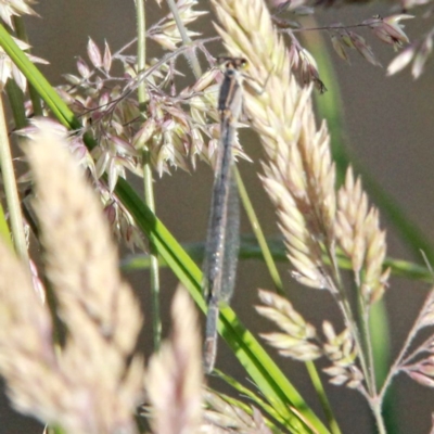
{"type": "Polygon", "coordinates": [[[72,159],[65,132],[54,131],[51,125],[49,129],[39,119],[34,124],[40,132],[25,151],[37,184],[35,209],[47,275],[52,285],[62,289],[60,314],[72,328],[81,322],[80,315],[88,315],[99,333],[128,354],[141,324],[140,311],[129,289],[123,289],[117,252],[101,204],[72,159]]]}

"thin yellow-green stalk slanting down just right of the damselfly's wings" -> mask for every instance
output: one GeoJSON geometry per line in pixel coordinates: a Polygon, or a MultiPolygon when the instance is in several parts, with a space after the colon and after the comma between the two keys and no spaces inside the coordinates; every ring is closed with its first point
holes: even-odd
{"type": "Polygon", "coordinates": [[[235,178],[238,184],[238,191],[240,193],[241,201],[243,203],[245,214],[251,222],[253,233],[259,244],[259,248],[264,255],[264,260],[267,265],[268,272],[270,273],[272,283],[275,284],[276,291],[280,295],[285,295],[283,291],[282,279],[280,279],[278,268],[276,267],[275,259],[271,255],[270,247],[268,246],[267,239],[264,235],[263,229],[260,228],[259,220],[257,219],[255,209],[253,208],[251,199],[248,197],[247,190],[245,189],[243,179],[240,176],[238,167],[235,167],[235,178]]]}

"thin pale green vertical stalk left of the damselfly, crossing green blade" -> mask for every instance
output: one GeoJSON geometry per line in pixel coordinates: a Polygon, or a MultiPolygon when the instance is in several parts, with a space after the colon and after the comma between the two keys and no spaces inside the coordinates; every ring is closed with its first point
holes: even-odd
{"type": "MultiPolygon", "coordinates": [[[[139,74],[145,69],[146,65],[146,14],[144,8],[144,0],[136,0],[137,11],[137,64],[139,74]]],[[[139,106],[143,111],[145,103],[149,101],[149,94],[146,89],[146,80],[141,80],[138,87],[138,99],[139,106]]],[[[143,161],[143,190],[144,190],[144,203],[149,208],[155,213],[155,199],[154,188],[152,179],[152,167],[150,161],[150,151],[148,148],[143,149],[142,152],[143,161]]],[[[154,336],[154,347],[157,350],[162,341],[162,316],[159,309],[159,268],[158,257],[155,248],[153,235],[150,240],[150,275],[151,275],[151,299],[152,299],[152,330],[154,336]]]]}

